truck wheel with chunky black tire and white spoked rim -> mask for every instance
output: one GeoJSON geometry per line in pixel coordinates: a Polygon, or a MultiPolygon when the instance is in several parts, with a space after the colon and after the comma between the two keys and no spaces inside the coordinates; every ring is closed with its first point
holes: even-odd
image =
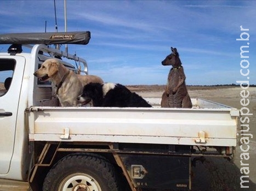
{"type": "Polygon", "coordinates": [[[43,191],[119,191],[115,169],[110,162],[92,153],[70,154],[48,172],[43,191]]]}

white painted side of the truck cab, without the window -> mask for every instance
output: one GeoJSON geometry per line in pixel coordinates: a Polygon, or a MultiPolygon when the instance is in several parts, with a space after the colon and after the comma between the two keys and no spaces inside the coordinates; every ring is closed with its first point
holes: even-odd
{"type": "MultiPolygon", "coordinates": [[[[4,53],[1,58],[6,58],[4,53]]],[[[0,117],[0,177],[24,180],[27,176],[25,169],[29,166],[29,156],[23,153],[28,152],[28,127],[24,128],[24,110],[27,106],[27,75],[25,75],[25,62],[30,62],[28,54],[21,56],[8,56],[13,59],[15,71],[13,73],[12,86],[4,96],[0,97],[0,112],[12,112],[12,116],[0,117]]]]}

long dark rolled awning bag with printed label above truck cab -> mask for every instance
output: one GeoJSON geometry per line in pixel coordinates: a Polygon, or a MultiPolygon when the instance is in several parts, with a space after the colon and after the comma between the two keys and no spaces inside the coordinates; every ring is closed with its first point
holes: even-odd
{"type": "Polygon", "coordinates": [[[0,34],[0,44],[83,44],[90,40],[90,32],[10,33],[0,34]]]}

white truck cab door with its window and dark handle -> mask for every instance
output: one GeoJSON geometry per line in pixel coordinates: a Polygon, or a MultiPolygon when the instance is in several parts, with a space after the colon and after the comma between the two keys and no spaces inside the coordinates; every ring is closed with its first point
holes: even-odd
{"type": "MultiPolygon", "coordinates": [[[[7,174],[12,161],[25,58],[0,56],[0,175],[7,174]]],[[[25,102],[25,100],[23,100],[25,102]]]]}

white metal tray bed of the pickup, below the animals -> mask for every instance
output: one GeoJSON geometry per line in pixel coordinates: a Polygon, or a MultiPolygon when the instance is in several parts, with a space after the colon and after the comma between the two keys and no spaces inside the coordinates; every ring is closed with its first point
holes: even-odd
{"type": "Polygon", "coordinates": [[[236,146],[239,110],[204,99],[192,109],[33,106],[27,110],[30,141],[236,146]]]}

